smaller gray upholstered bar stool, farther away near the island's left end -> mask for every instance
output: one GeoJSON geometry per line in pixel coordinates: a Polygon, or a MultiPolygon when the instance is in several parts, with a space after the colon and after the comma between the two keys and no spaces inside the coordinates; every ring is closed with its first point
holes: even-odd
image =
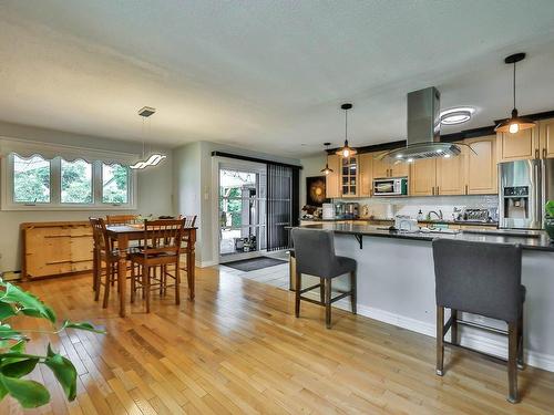
{"type": "Polygon", "coordinates": [[[325,322],[331,328],[331,304],[350,295],[352,313],[356,314],[356,260],[335,255],[332,232],[318,229],[293,229],[296,257],[296,302],[295,314],[300,317],[300,300],[325,307],[325,322]],[[302,289],[301,274],[319,277],[319,283],[302,289]],[[331,298],[331,280],[350,274],[350,291],[331,298]],[[319,288],[320,301],[302,297],[307,291],[319,288]]]}

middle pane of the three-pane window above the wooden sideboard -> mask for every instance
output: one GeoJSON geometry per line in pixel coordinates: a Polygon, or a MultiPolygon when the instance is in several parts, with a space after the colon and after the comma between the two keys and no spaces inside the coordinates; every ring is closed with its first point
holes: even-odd
{"type": "Polygon", "coordinates": [[[92,204],[92,164],[61,159],[62,204],[92,204]]]}

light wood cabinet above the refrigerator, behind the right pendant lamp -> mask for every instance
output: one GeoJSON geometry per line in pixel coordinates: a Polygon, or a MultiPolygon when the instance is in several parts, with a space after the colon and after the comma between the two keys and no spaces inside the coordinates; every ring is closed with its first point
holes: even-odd
{"type": "Polygon", "coordinates": [[[499,133],[496,135],[499,162],[538,158],[537,133],[537,127],[523,129],[515,134],[499,133]]]}

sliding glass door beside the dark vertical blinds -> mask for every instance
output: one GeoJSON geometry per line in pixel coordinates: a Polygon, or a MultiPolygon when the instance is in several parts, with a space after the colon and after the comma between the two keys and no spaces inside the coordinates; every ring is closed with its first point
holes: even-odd
{"type": "Polygon", "coordinates": [[[265,166],[219,165],[219,262],[266,249],[265,166]]]}

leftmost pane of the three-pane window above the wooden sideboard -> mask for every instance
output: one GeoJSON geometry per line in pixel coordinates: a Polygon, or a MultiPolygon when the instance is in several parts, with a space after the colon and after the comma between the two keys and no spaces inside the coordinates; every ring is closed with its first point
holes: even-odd
{"type": "Polygon", "coordinates": [[[18,204],[50,203],[50,162],[40,156],[13,155],[13,201],[18,204]]]}

